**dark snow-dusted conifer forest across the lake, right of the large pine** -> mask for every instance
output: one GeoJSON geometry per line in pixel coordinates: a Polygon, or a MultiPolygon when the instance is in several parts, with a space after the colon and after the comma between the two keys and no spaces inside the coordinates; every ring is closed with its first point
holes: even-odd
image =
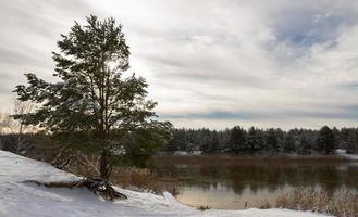
{"type": "Polygon", "coordinates": [[[236,126],[226,130],[174,129],[172,140],[163,151],[195,152],[207,154],[334,154],[345,149],[358,153],[358,128],[311,129],[259,129],[248,130],[236,126]]]}

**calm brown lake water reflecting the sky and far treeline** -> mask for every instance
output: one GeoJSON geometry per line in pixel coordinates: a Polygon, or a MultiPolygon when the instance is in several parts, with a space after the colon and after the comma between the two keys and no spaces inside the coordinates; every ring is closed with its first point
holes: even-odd
{"type": "Polygon", "coordinates": [[[358,190],[358,165],[355,163],[161,163],[158,174],[180,186],[177,200],[192,206],[244,208],[262,201],[275,202],[295,188],[324,188],[334,193],[358,190]]]}

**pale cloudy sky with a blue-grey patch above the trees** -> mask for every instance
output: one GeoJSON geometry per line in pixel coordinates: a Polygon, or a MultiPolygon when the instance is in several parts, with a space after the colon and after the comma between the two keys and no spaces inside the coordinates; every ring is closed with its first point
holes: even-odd
{"type": "Polygon", "coordinates": [[[358,126],[358,1],[1,0],[0,107],[51,79],[60,34],[113,16],[176,127],[358,126]]]}

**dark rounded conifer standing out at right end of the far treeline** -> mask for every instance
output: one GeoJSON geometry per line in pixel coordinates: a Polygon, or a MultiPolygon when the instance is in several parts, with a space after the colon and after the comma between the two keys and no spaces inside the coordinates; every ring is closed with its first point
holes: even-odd
{"type": "Polygon", "coordinates": [[[334,153],[335,138],[332,129],[330,129],[328,126],[324,126],[320,129],[316,142],[317,142],[317,149],[320,153],[323,154],[334,153]]]}

